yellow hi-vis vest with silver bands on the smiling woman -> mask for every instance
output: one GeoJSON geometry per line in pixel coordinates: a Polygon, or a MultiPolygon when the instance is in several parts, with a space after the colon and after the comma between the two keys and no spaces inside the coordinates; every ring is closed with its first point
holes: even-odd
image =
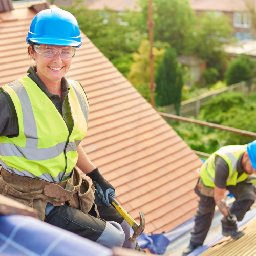
{"type": "Polygon", "coordinates": [[[0,163],[9,172],[49,182],[69,177],[78,159],[77,146],[87,132],[89,105],[80,84],[68,80],[73,118],[69,131],[54,104],[29,77],[0,88],[11,97],[19,135],[0,137],[0,163]]]}

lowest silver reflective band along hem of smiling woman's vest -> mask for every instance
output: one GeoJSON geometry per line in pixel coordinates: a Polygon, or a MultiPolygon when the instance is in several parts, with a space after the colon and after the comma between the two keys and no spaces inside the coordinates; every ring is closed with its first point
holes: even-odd
{"type": "MultiPolygon", "coordinates": [[[[62,175],[63,175],[63,173],[64,173],[64,172],[61,172],[56,177],[52,177],[48,173],[41,174],[39,176],[35,176],[35,175],[29,173],[27,170],[20,171],[20,170],[17,170],[17,169],[12,169],[7,164],[5,164],[1,159],[0,159],[0,163],[2,164],[3,168],[5,170],[7,170],[8,172],[10,172],[10,173],[17,174],[19,176],[29,177],[29,178],[38,178],[39,180],[48,181],[48,182],[59,182],[61,177],[62,177],[62,175]]],[[[71,172],[66,173],[64,175],[63,179],[64,180],[67,179],[70,176],[70,174],[71,174],[71,172]]]]}

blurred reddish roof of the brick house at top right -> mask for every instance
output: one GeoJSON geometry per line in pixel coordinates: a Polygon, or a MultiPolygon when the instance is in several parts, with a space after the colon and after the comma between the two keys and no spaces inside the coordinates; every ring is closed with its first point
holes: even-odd
{"type": "MultiPolygon", "coordinates": [[[[255,5],[254,2],[252,3],[255,5]]],[[[248,11],[245,1],[243,0],[191,0],[190,6],[193,10],[196,10],[196,11],[223,11],[223,12],[248,11]]]]}

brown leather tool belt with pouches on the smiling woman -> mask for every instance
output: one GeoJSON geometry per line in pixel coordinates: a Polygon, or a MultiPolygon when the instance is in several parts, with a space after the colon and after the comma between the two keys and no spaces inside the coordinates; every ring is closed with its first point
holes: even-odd
{"type": "MultiPolygon", "coordinates": [[[[94,204],[95,189],[76,168],[68,180],[54,183],[12,174],[2,166],[0,172],[0,194],[38,210],[42,221],[45,220],[48,202],[53,206],[68,202],[69,206],[86,214],[94,204]]],[[[98,214],[96,205],[95,210],[98,214]]]]}

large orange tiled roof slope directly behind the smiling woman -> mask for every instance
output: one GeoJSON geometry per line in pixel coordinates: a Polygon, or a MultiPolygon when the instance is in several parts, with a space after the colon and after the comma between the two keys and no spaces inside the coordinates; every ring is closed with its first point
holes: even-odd
{"type": "MultiPolygon", "coordinates": [[[[25,37],[35,13],[0,14],[0,83],[26,75],[25,37]]],[[[194,187],[201,160],[123,75],[82,34],[67,78],[87,93],[90,114],[82,147],[116,188],[117,200],[147,233],[168,232],[197,208],[194,187]]]]}

